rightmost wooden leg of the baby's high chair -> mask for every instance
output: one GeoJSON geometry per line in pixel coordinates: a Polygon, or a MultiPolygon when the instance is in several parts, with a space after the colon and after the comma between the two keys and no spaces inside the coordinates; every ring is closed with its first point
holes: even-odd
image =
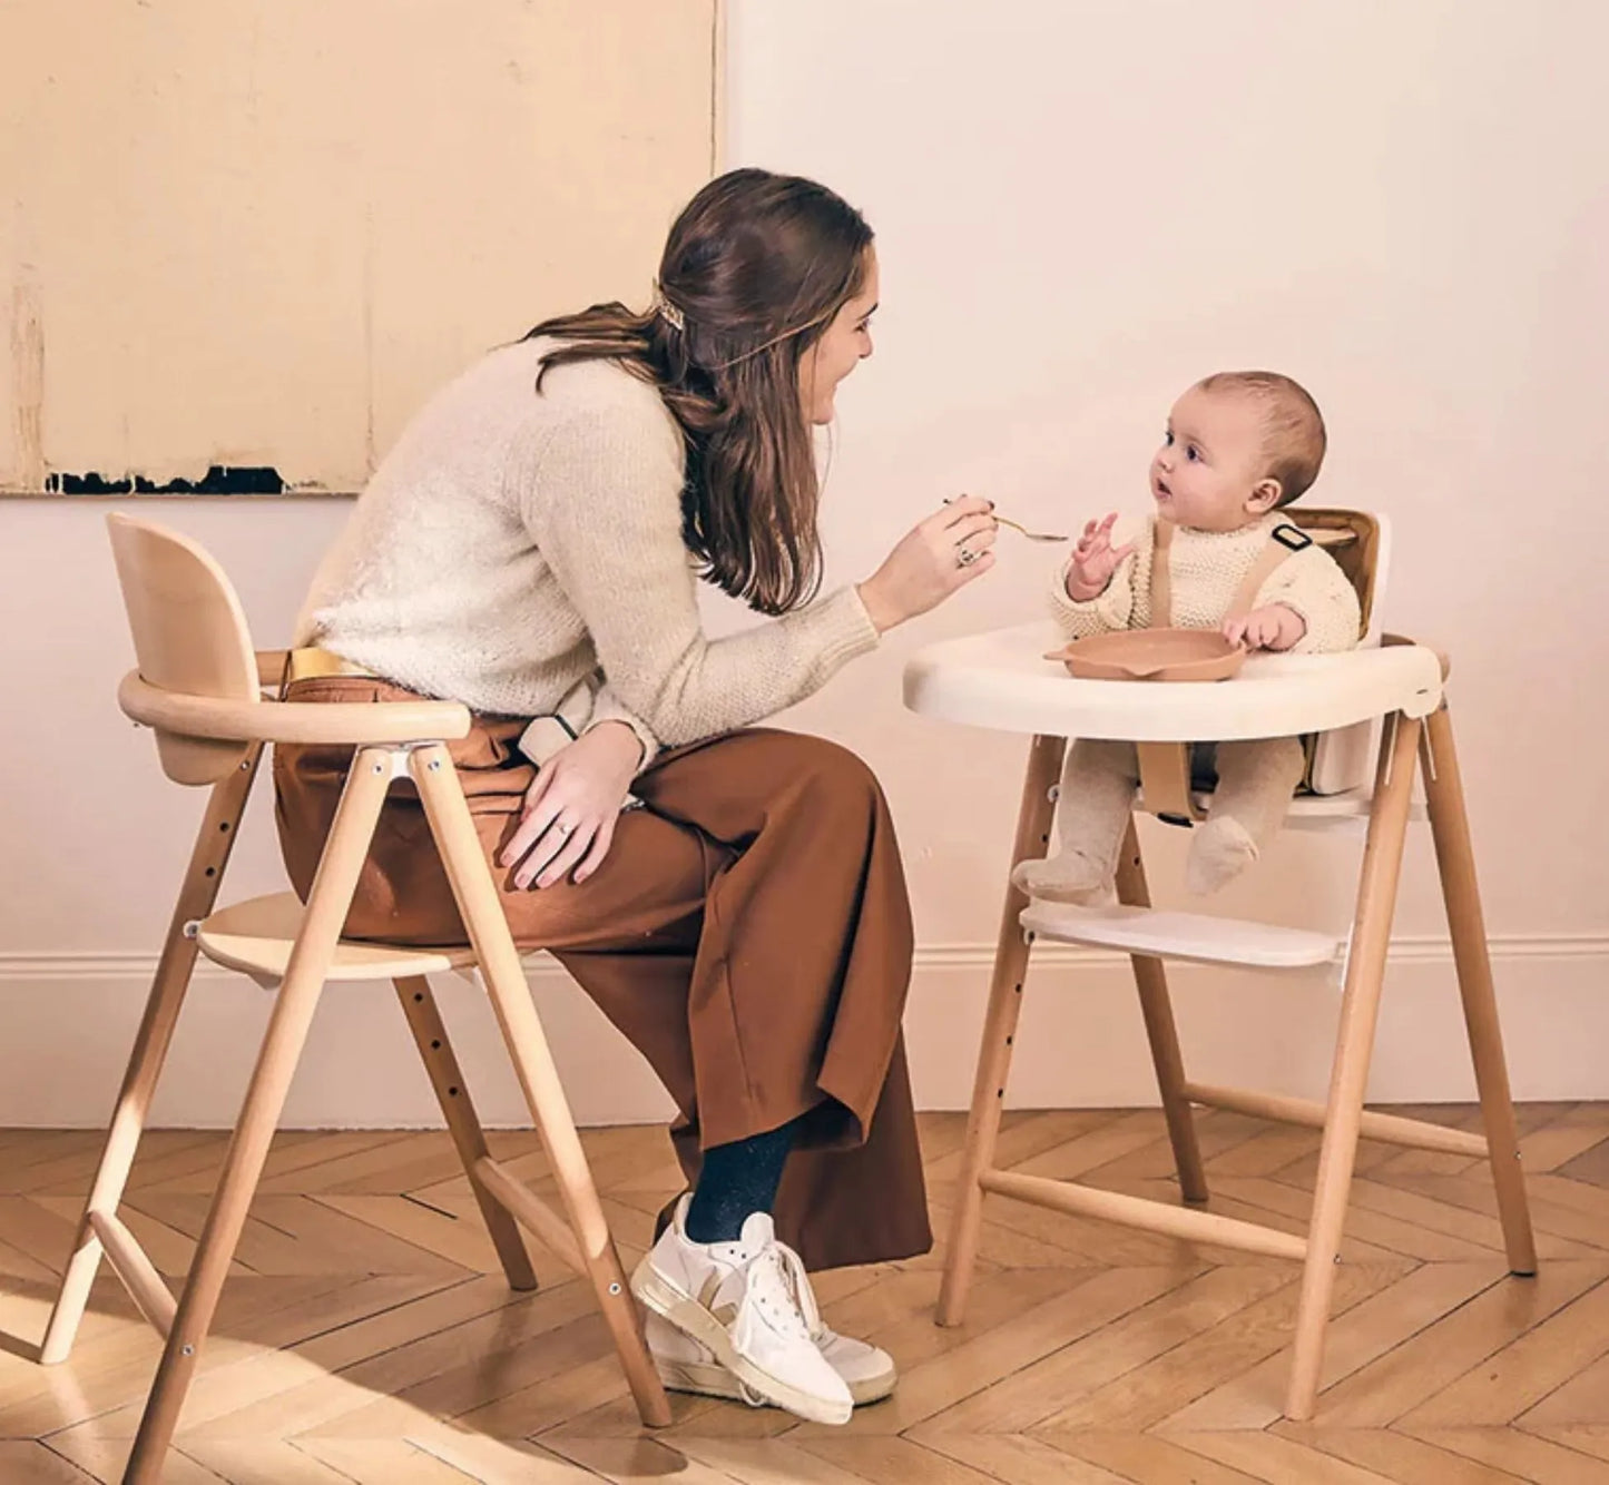
{"type": "Polygon", "coordinates": [[[1475,882],[1475,851],[1469,838],[1469,816],[1464,812],[1464,784],[1453,747],[1453,719],[1445,703],[1426,719],[1421,755],[1430,837],[1435,841],[1435,864],[1442,874],[1442,898],[1453,936],[1453,964],[1464,1002],[1464,1025],[1469,1028],[1469,1054],[1475,1063],[1475,1088],[1480,1091],[1480,1117],[1503,1221],[1503,1245],[1512,1273],[1533,1274],[1537,1242],[1525,1202],[1519,1129],[1503,1057],[1503,1030],[1498,1025],[1492,959],[1487,954],[1480,886],[1475,882]]]}

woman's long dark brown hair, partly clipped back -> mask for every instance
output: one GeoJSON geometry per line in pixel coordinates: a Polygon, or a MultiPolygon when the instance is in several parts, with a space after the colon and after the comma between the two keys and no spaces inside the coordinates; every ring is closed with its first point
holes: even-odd
{"type": "Polygon", "coordinates": [[[526,339],[553,367],[613,359],[658,388],[687,444],[682,539],[702,576],[785,613],[821,584],[821,489],[800,362],[866,280],[872,228],[814,180],[729,171],[671,227],[658,301],[594,304],[526,339]]]}

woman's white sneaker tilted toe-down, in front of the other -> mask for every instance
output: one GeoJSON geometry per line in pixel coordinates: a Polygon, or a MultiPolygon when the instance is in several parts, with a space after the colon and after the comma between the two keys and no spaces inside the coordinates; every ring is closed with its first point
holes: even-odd
{"type": "MultiPolygon", "coordinates": [[[[850,1385],[811,1340],[816,1297],[804,1265],[750,1213],[737,1242],[692,1242],[689,1197],[631,1276],[631,1292],[758,1398],[819,1424],[846,1424],[850,1385]]],[[[697,1363],[695,1363],[697,1364],[697,1363]]]]}

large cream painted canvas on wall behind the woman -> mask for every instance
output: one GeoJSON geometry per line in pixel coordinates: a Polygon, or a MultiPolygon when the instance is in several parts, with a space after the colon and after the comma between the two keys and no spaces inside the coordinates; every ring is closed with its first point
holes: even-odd
{"type": "Polygon", "coordinates": [[[428,391],[640,286],[716,0],[8,0],[0,491],[359,489],[428,391]]]}

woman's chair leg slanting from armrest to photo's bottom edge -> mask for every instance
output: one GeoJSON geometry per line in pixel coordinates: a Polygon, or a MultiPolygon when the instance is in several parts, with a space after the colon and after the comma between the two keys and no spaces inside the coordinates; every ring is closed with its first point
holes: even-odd
{"type": "Polygon", "coordinates": [[[167,1445],[179,1424],[190,1379],[195,1376],[201,1342],[206,1339],[217,1310],[217,1298],[228,1274],[228,1265],[246,1224],[253,1192],[262,1173],[262,1162],[274,1139],[285,1092],[296,1072],[307,1026],[312,1023],[323,989],[325,973],[346,912],[352,904],[357,874],[368,854],[368,843],[391,785],[391,753],[386,748],[362,748],[352,759],[341,804],[330,827],[330,840],[319,861],[301,932],[291,949],[280,981],[269,1030],[257,1052],[257,1065],[246,1089],[246,1102],[235,1121],[228,1142],[228,1158],[208,1211],[201,1242],[196,1247],[179,1313],[167,1347],[156,1369],[156,1382],[140,1419],[140,1432],[129,1454],[124,1485],[154,1485],[163,1475],[167,1445]]]}

